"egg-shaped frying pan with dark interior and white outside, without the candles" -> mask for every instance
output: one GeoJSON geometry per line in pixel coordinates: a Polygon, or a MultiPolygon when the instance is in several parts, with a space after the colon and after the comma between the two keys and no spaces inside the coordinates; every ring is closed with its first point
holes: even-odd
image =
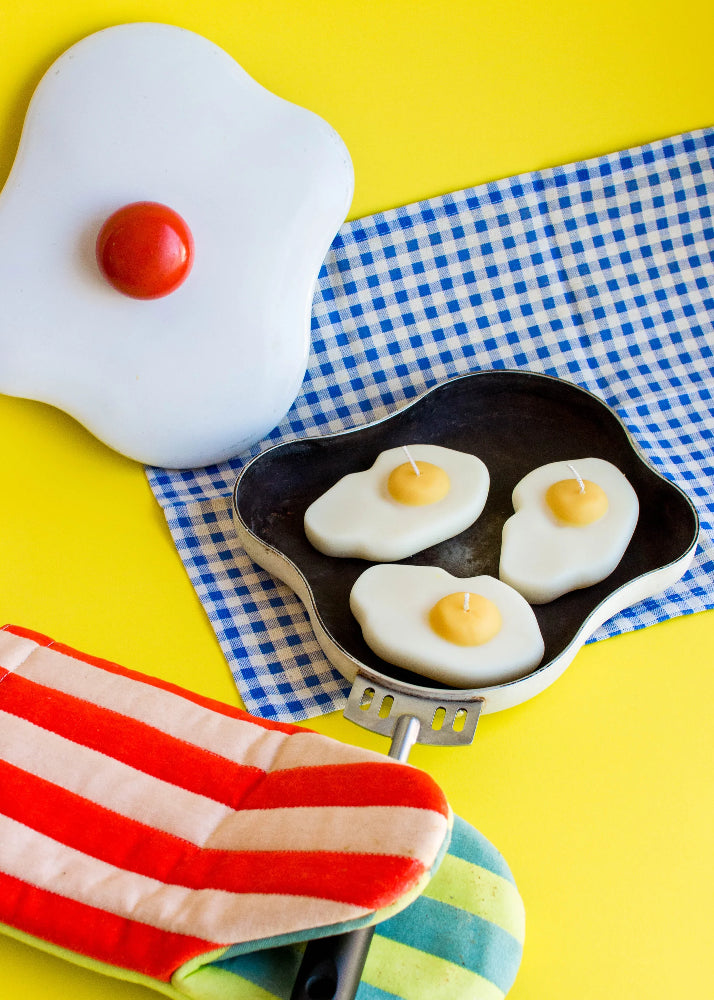
{"type": "MultiPolygon", "coordinates": [[[[520,704],[556,680],[592,633],[618,611],[676,583],[689,567],[699,521],[690,500],[639,454],[619,418],[572,383],[523,371],[489,371],[441,383],[394,415],[341,434],[276,445],[242,471],[233,493],[238,540],[304,603],[320,646],[348,679],[359,673],[417,696],[444,690],[385,662],[366,645],[349,609],[352,585],[371,565],[312,548],[306,508],[342,476],[369,468],[387,448],[440,444],[478,455],[489,469],[488,500],[460,535],[401,560],[456,577],[498,576],[501,530],[526,473],[573,457],[604,458],[634,487],[637,528],[615,571],[600,583],[534,607],[545,641],[541,664],[505,684],[473,689],[483,711],[520,704]]],[[[465,694],[465,692],[462,692],[465,694]]]]}

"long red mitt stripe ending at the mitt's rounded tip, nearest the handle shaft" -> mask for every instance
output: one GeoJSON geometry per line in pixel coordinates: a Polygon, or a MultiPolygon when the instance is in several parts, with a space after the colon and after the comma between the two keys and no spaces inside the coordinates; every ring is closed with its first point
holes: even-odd
{"type": "Polygon", "coordinates": [[[9,674],[2,707],[50,732],[206,795],[233,809],[280,806],[416,806],[446,816],[441,789],[425,773],[393,761],[292,768],[265,774],[167,736],[146,723],[9,674]],[[118,739],[118,735],[121,738],[118,739]]]}

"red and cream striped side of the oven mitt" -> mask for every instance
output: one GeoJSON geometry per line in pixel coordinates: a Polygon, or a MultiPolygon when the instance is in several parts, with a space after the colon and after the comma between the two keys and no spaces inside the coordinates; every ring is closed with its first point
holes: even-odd
{"type": "Polygon", "coordinates": [[[168,981],[381,919],[449,837],[426,774],[0,630],[0,922],[168,981]]]}

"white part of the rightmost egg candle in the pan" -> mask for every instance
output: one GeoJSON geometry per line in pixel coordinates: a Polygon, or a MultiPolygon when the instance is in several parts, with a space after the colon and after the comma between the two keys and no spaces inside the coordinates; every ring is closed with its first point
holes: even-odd
{"type": "Polygon", "coordinates": [[[534,469],[514,489],[513,507],[515,513],[503,526],[499,576],[531,604],[546,604],[609,576],[622,559],[639,516],[630,483],[616,466],[600,458],[551,462],[534,469]],[[592,524],[564,524],[546,504],[548,488],[573,478],[573,470],[607,495],[607,512],[592,524]]]}

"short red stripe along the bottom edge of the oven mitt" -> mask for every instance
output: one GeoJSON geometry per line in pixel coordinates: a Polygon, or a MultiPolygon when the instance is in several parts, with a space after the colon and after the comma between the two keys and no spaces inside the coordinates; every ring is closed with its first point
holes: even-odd
{"type": "Polygon", "coordinates": [[[116,917],[2,872],[0,921],[60,948],[163,982],[184,962],[221,947],[116,917]]]}

